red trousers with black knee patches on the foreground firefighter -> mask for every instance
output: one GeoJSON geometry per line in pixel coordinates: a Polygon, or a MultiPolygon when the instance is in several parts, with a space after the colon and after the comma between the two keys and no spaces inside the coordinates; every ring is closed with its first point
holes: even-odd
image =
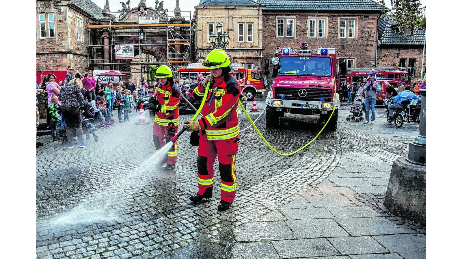
{"type": "Polygon", "coordinates": [[[213,188],[213,164],[218,155],[221,200],[229,203],[234,201],[237,187],[236,154],[237,138],[208,141],[206,135],[200,136],[197,158],[198,194],[202,195],[207,188],[213,188]]]}

